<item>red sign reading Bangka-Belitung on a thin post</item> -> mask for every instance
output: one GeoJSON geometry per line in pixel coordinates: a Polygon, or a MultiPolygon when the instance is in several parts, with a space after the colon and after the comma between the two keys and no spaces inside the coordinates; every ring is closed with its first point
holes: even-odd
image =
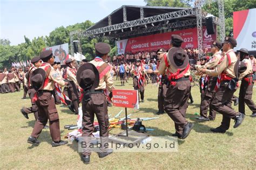
{"type": "Polygon", "coordinates": [[[115,107],[139,109],[138,90],[113,89],[112,94],[112,101],[115,107]]]}

